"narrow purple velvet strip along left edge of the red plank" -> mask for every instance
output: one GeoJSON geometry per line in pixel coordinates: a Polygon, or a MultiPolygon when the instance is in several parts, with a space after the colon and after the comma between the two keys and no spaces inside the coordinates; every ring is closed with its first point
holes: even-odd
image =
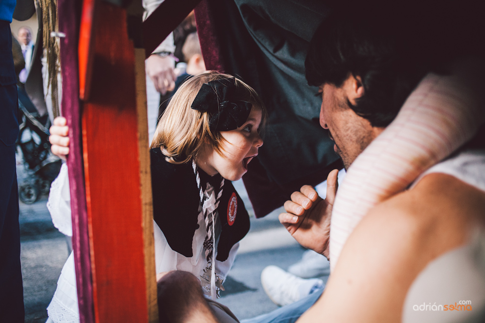
{"type": "Polygon", "coordinates": [[[80,322],[95,322],[89,252],[88,217],[82,159],[81,102],[79,100],[78,41],[81,0],[58,0],[61,38],[62,112],[69,126],[67,158],[72,211],[72,247],[76,269],[80,322]]]}

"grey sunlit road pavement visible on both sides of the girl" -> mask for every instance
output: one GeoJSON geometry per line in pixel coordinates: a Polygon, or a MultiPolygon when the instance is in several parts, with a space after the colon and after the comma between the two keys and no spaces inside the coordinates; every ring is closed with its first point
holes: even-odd
{"type": "MultiPolygon", "coordinates": [[[[17,165],[18,181],[26,172],[17,165]]],[[[251,204],[242,181],[234,183],[249,213],[251,204]]],[[[68,257],[66,237],[52,225],[47,209],[47,196],[33,204],[19,201],[21,235],[21,263],[24,284],[25,322],[47,320],[46,308],[57,286],[57,279],[68,257]]],[[[241,320],[267,313],[277,306],[264,293],[260,274],[267,265],[284,269],[298,261],[304,249],[278,221],[276,210],[262,219],[251,216],[251,230],[242,239],[240,251],[224,284],[220,302],[228,306],[241,320]]]]}

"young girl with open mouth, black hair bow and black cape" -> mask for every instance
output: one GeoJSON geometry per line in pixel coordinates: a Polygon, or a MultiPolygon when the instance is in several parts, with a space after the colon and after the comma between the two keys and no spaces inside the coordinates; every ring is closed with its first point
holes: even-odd
{"type": "MultiPolygon", "coordinates": [[[[249,216],[230,181],[240,179],[258,154],[265,118],[256,92],[230,75],[199,74],[175,93],[150,147],[157,273],[191,272],[212,299],[224,290],[239,241],[249,231],[249,216]]],[[[52,151],[65,157],[65,119],[54,124],[52,151]]],[[[62,197],[69,196],[65,166],[52,186],[49,210],[56,224],[59,213],[70,219],[68,198],[62,197]]],[[[79,321],[72,253],[48,314],[48,322],[79,321]]]]}

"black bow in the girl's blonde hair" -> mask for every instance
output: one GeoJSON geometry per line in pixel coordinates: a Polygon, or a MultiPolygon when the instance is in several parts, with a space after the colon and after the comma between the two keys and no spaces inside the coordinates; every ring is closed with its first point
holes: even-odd
{"type": "Polygon", "coordinates": [[[224,78],[205,83],[191,108],[209,112],[210,131],[230,131],[242,126],[251,112],[251,103],[236,99],[236,79],[224,78]]]}

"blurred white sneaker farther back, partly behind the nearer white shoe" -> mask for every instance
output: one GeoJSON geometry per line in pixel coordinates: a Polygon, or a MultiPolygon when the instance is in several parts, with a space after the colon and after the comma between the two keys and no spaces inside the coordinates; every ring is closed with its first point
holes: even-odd
{"type": "Polygon", "coordinates": [[[302,260],[288,267],[288,272],[302,278],[314,278],[330,275],[330,262],[325,256],[313,250],[303,253],[302,260]]]}

